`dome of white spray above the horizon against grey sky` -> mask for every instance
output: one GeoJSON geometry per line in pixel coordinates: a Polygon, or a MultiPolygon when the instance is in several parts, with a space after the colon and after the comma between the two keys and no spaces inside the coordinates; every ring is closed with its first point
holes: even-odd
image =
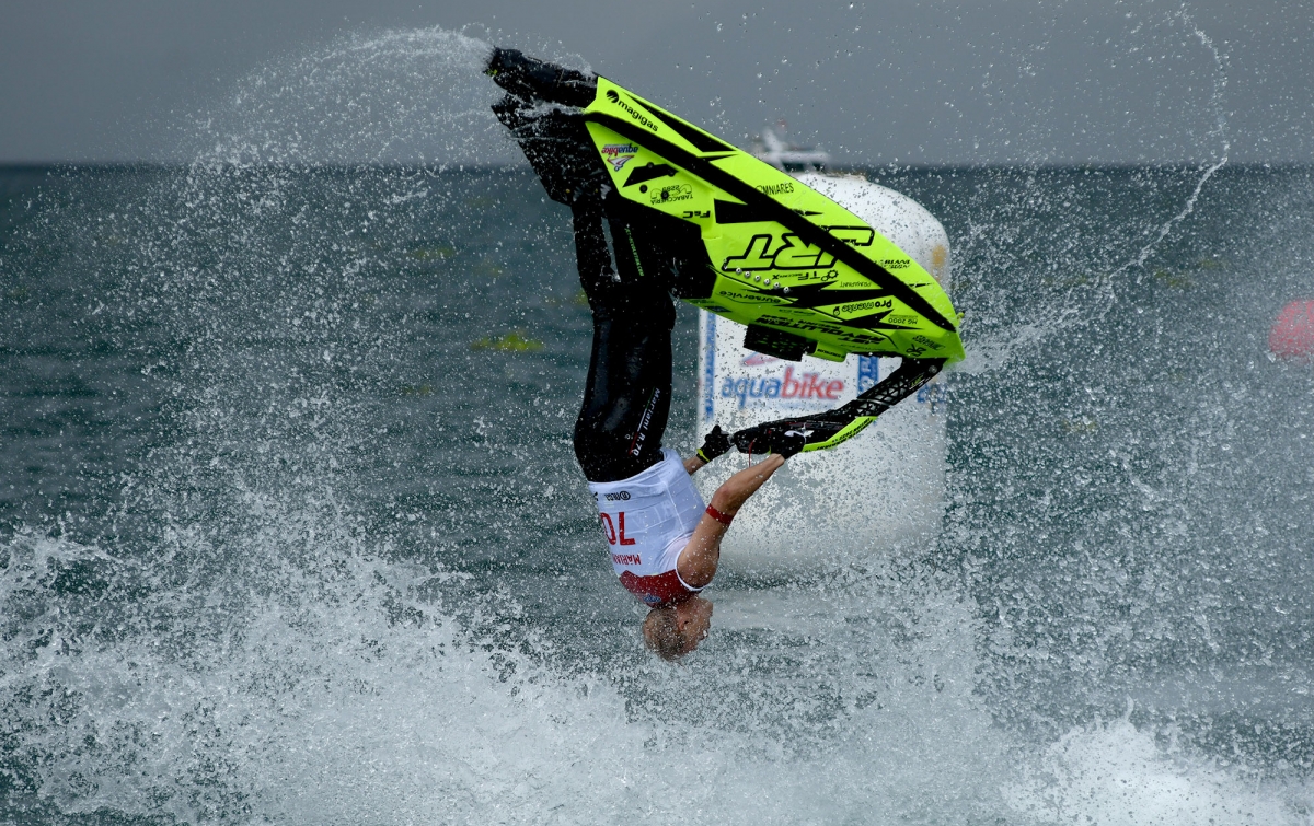
{"type": "Polygon", "coordinates": [[[490,51],[443,29],[347,37],[242,81],[198,118],[194,154],[230,165],[518,163],[489,110],[490,51]]]}

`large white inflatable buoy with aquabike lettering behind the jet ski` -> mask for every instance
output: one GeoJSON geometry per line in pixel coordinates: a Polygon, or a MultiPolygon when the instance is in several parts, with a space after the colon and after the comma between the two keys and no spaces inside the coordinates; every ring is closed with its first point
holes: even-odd
{"type": "MultiPolygon", "coordinates": [[[[950,272],[945,227],[912,198],[857,176],[798,179],[854,213],[916,259],[941,285],[950,272]]],[[[744,349],[744,327],[699,313],[699,435],[838,407],[888,376],[897,359],[804,356],[783,361],[744,349]]],[[[790,460],[735,519],[721,545],[727,570],[770,575],[929,545],[945,502],[943,376],[853,440],[790,460]]],[[[731,453],[695,479],[704,496],[746,457],[731,453]]]]}

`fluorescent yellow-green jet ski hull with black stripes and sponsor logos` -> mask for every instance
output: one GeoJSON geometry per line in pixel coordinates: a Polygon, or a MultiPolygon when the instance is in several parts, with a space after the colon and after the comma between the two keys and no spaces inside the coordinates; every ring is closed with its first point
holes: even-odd
{"type": "Polygon", "coordinates": [[[963,357],[949,295],[880,232],[606,77],[597,89],[583,117],[615,190],[698,226],[715,282],[686,299],[749,326],[748,347],[963,357]]]}

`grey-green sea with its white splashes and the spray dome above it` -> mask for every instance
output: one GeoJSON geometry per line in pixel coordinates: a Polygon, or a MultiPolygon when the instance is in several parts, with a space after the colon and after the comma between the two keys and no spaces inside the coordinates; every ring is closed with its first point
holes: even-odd
{"type": "Polygon", "coordinates": [[[1314,819],[1314,373],[1265,353],[1314,172],[869,171],[954,244],[943,531],[781,525],[823,562],[723,571],[671,666],[574,466],[568,213],[498,165],[480,49],[347,41],[192,163],[0,173],[0,819],[1314,819]]]}

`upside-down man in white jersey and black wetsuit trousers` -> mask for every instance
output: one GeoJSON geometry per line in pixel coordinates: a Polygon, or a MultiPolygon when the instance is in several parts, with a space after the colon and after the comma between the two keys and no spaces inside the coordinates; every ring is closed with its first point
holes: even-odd
{"type": "Polygon", "coordinates": [[[639,278],[629,267],[612,271],[597,206],[587,196],[574,205],[579,278],[593,310],[576,458],[589,479],[620,584],[652,608],[644,640],[673,658],[691,651],[707,633],[712,604],[698,592],[716,575],[731,520],[787,456],[803,448],[803,440],[791,445],[794,450],[787,446],[732,475],[704,507],[691,477],[729,449],[729,437],[714,431],[685,461],[662,448],[675,309],[660,284],[639,278]]]}

